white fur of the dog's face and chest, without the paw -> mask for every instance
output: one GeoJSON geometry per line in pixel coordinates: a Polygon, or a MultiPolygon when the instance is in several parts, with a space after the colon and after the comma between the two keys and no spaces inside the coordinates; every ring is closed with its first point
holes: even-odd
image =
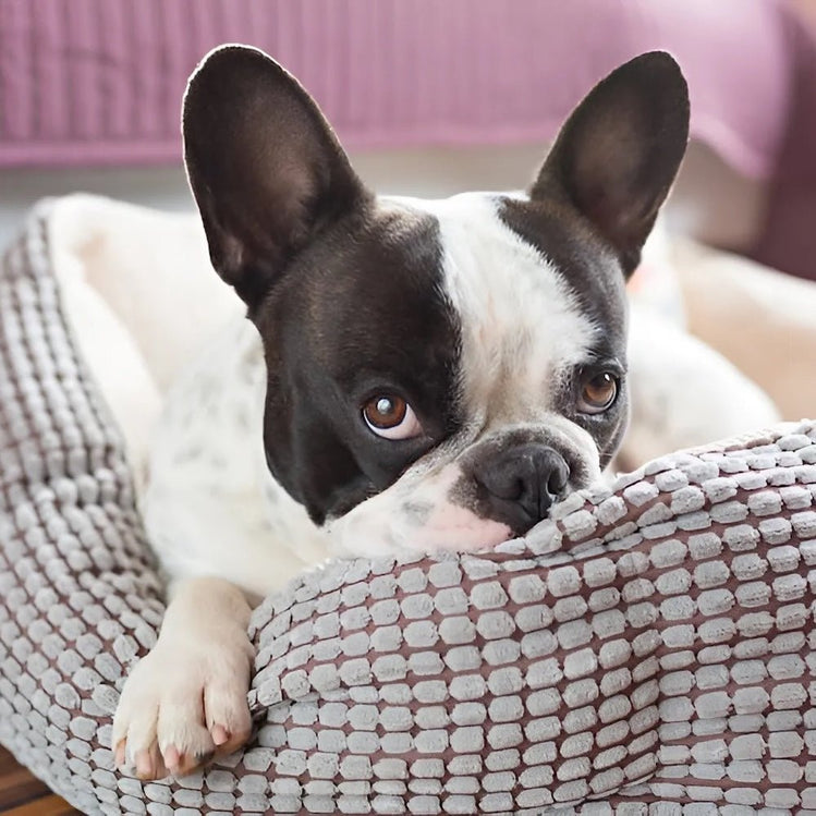
{"type": "Polygon", "coordinates": [[[499,544],[506,525],[451,499],[456,459],[497,428],[551,428],[598,474],[589,435],[552,406],[553,382],[586,357],[596,331],[560,273],[500,221],[491,195],[383,206],[439,220],[443,290],[462,321],[465,427],[332,522],[327,539],[269,476],[259,339],[246,321],[230,327],[176,383],[155,435],[145,519],[169,574],[217,574],[264,595],[329,555],[499,544]],[[417,506],[430,512],[418,519],[417,506]]]}

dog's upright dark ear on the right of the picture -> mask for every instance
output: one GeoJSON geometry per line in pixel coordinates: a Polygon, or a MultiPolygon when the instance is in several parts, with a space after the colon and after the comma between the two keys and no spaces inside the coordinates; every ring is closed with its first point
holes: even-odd
{"type": "Polygon", "coordinates": [[[668,53],[626,62],[569,118],[531,190],[581,212],[626,276],[655,223],[689,141],[689,89],[668,53]]]}

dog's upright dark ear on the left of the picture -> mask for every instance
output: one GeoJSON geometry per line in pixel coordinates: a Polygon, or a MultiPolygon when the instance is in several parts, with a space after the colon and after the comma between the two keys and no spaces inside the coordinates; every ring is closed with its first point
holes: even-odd
{"type": "Polygon", "coordinates": [[[368,198],[312,97],[254,48],[204,59],[182,129],[212,266],[251,309],[318,230],[368,198]]]}

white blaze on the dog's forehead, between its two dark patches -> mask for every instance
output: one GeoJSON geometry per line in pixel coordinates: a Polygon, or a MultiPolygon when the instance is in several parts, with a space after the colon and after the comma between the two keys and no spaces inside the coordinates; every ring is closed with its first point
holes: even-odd
{"type": "Polygon", "coordinates": [[[597,327],[552,264],[501,221],[498,196],[403,200],[439,220],[468,418],[486,431],[539,419],[559,375],[586,361],[597,327]]]}

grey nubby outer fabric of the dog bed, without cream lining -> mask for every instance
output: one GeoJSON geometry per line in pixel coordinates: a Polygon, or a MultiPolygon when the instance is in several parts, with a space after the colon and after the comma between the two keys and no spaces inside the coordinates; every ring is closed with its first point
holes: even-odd
{"type": "Polygon", "coordinates": [[[816,812],[816,424],[666,456],[484,555],[337,561],[256,611],[257,731],[113,769],[161,584],[35,211],[0,273],[0,743],[90,814],[816,812]]]}

